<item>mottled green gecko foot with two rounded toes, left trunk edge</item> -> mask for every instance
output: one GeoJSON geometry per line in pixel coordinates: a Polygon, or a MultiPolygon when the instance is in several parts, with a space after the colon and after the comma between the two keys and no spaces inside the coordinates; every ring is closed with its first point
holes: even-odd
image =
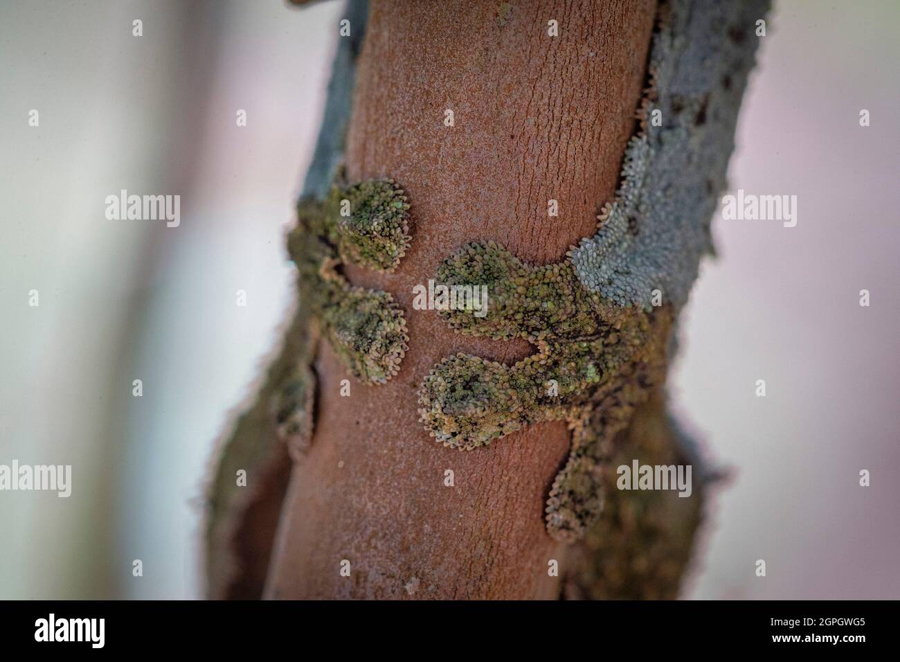
{"type": "Polygon", "coordinates": [[[288,238],[302,300],[338,358],[365,384],[383,384],[397,374],[409,349],[406,320],[392,295],[351,286],[339,268],[343,262],[396,268],[410,246],[409,208],[390,179],[335,187],[324,203],[301,201],[297,229],[288,238]],[[342,215],[345,209],[350,215],[342,215]]]}

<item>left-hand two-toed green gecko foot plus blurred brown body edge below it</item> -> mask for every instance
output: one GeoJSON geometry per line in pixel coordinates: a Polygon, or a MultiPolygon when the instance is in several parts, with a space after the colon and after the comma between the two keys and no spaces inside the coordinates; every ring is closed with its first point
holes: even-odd
{"type": "MultiPolygon", "coordinates": [[[[253,520],[255,508],[264,512],[266,498],[286,487],[279,483],[285,478],[278,477],[284,451],[302,458],[310,444],[320,339],[329,340],[364,384],[383,384],[397,373],[409,342],[400,306],[386,292],[351,286],[340,268],[345,263],[378,271],[396,268],[410,246],[409,208],[391,179],[333,186],[325,200],[307,196],[298,204],[288,251],[297,266],[300,306],[255,403],[223,440],[209,487],[206,553],[212,596],[258,597],[262,590],[265,576],[253,576],[253,571],[265,569],[259,559],[268,558],[269,550],[255,549],[257,538],[241,527],[253,520]],[[250,489],[235,480],[241,470],[250,489]]],[[[267,544],[274,533],[268,532],[267,544]]]]}

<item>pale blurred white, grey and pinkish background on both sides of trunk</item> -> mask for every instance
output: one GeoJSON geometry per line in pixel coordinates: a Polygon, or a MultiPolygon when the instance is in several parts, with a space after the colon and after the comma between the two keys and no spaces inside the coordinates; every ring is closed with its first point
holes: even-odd
{"type": "MultiPolygon", "coordinates": [[[[342,11],[0,5],[0,464],[73,472],[67,499],[0,492],[0,598],[201,597],[213,442],[290,306],[342,11]],[[181,195],[180,226],[107,220],[121,189],[181,195]]],[[[685,597],[900,597],[898,18],[770,14],[730,182],[797,195],[797,227],[718,218],[683,315],[672,409],[731,472],[685,597]]]]}

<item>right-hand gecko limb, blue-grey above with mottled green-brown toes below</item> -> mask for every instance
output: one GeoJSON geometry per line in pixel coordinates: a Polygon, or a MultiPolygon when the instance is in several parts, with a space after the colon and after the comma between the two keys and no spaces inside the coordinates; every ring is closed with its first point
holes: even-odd
{"type": "Polygon", "coordinates": [[[445,446],[475,449],[535,422],[567,420],[572,447],[545,508],[557,540],[578,540],[599,521],[611,440],[664,380],[671,322],[712,250],[709,222],[753,65],[752,29],[767,8],[764,0],[661,5],[617,197],[599,214],[597,234],[563,262],[531,267],[477,242],[438,270],[446,286],[488,286],[482,319],[442,312],[455,331],[524,338],[537,352],[513,366],[445,358],[419,390],[422,421],[445,446]]]}

